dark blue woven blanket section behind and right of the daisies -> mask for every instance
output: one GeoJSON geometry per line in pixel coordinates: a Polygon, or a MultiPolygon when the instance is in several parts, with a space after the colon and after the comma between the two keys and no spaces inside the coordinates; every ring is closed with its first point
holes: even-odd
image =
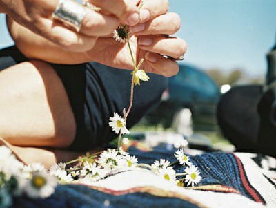
{"type": "MultiPolygon", "coordinates": [[[[160,158],[177,162],[174,153],[177,149],[165,149],[156,147],[150,152],[139,151],[135,147],[130,147],[130,154],[137,156],[141,163],[152,164],[160,158]],[[163,150],[163,151],[162,151],[163,150]]],[[[242,183],[237,160],[232,153],[205,153],[202,155],[190,156],[192,162],[200,171],[202,180],[197,185],[223,185],[241,192],[242,195],[253,199],[242,183]]],[[[183,173],[186,167],[177,163],[173,166],[177,173],[183,173]]],[[[181,179],[184,176],[177,176],[181,179]]],[[[245,176],[246,177],[246,176],[245,176]]]]}

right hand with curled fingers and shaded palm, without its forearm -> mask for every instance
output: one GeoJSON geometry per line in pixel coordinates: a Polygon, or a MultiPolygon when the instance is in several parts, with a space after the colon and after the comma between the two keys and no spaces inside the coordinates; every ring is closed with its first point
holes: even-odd
{"type": "MultiPolygon", "coordinates": [[[[179,71],[175,60],[163,55],[178,58],[186,53],[186,42],[173,35],[180,28],[181,19],[175,13],[168,13],[167,0],[145,0],[140,10],[140,23],[130,27],[134,34],[130,38],[132,52],[137,60],[145,59],[141,66],[150,73],[170,77],[179,71]],[[160,35],[162,34],[162,35],[160,35]],[[137,50],[140,48],[141,50],[137,50]]],[[[86,52],[88,59],[116,68],[133,69],[127,44],[120,44],[113,38],[99,38],[93,50],[86,52]]]]}

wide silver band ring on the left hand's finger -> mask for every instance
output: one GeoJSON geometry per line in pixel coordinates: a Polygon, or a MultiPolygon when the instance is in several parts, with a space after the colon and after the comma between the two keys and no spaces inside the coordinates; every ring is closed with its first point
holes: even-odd
{"type": "Polygon", "coordinates": [[[59,0],[59,4],[52,17],[65,23],[77,32],[81,30],[81,23],[86,15],[86,8],[74,0],[59,0]]]}

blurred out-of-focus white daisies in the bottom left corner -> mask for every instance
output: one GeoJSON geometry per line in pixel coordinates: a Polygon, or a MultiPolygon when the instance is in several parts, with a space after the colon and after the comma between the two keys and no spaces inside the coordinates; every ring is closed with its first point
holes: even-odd
{"type": "Polygon", "coordinates": [[[39,163],[19,162],[6,146],[0,146],[0,207],[10,207],[14,196],[46,198],[55,191],[57,178],[39,163]]]}

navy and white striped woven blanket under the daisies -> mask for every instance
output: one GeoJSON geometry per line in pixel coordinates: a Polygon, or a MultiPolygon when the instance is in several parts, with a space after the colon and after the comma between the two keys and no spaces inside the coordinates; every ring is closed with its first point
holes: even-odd
{"type": "MultiPolygon", "coordinates": [[[[130,146],[139,162],[174,161],[175,149],[130,146]]],[[[152,173],[125,171],[90,184],[59,185],[45,200],[14,199],[14,207],[276,207],[276,160],[253,153],[191,155],[203,179],[179,187],[152,173]]],[[[181,173],[183,167],[175,164],[181,173]]]]}

